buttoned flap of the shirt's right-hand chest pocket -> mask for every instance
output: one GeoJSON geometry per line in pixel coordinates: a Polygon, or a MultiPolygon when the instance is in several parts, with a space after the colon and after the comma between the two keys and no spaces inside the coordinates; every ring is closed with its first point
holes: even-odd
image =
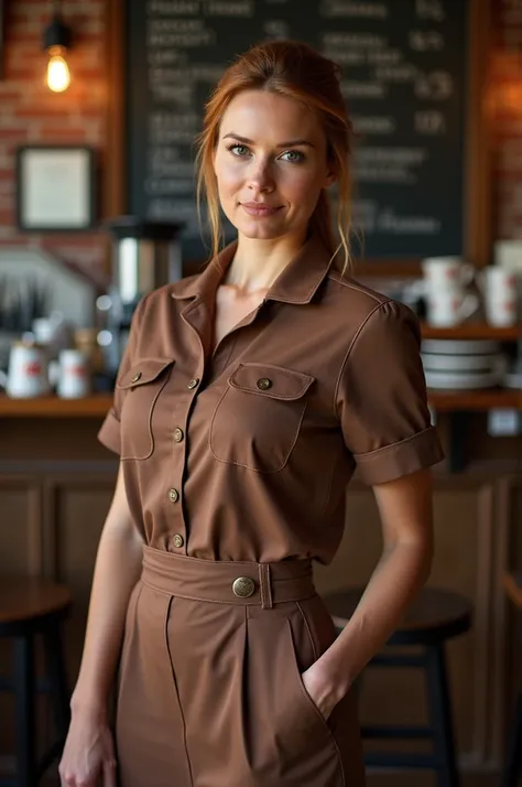
{"type": "Polygon", "coordinates": [[[270,364],[240,364],[228,381],[232,388],[272,399],[300,399],[315,377],[270,364]]]}

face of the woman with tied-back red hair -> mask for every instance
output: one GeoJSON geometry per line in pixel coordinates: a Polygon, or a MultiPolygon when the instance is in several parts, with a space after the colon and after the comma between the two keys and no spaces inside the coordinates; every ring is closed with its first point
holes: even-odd
{"type": "Polygon", "coordinates": [[[227,107],[214,158],[227,218],[248,238],[305,234],[334,180],[316,115],[300,101],[246,90],[227,107]]]}

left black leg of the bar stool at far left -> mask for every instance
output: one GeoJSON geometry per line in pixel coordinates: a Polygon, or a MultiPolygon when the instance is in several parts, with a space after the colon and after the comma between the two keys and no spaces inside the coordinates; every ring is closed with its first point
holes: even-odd
{"type": "Polygon", "coordinates": [[[14,639],[17,787],[35,787],[34,642],[14,639]]]}

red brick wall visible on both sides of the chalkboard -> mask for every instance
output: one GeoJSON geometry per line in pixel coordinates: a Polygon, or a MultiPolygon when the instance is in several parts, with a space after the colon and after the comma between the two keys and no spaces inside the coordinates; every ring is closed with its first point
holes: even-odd
{"type": "MultiPolygon", "coordinates": [[[[48,21],[47,0],[7,2],[4,77],[0,79],[0,247],[43,242],[84,268],[102,265],[100,234],[22,236],[14,227],[13,152],[24,142],[95,145],[104,165],[107,128],[105,2],[67,0],[64,15],[75,34],[69,52],[73,75],[63,95],[43,83],[41,42],[48,21]]],[[[472,1],[472,0],[471,0],[472,1]]],[[[493,47],[488,115],[492,130],[493,237],[522,238],[522,0],[491,0],[493,47]]]]}

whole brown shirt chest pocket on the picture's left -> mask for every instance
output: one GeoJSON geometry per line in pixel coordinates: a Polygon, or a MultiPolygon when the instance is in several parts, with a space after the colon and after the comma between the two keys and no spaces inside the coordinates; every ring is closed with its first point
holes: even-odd
{"type": "Polygon", "coordinates": [[[142,358],[116,381],[116,387],[126,391],[121,409],[120,459],[145,460],[152,456],[157,398],[174,364],[172,358],[142,358]]]}

